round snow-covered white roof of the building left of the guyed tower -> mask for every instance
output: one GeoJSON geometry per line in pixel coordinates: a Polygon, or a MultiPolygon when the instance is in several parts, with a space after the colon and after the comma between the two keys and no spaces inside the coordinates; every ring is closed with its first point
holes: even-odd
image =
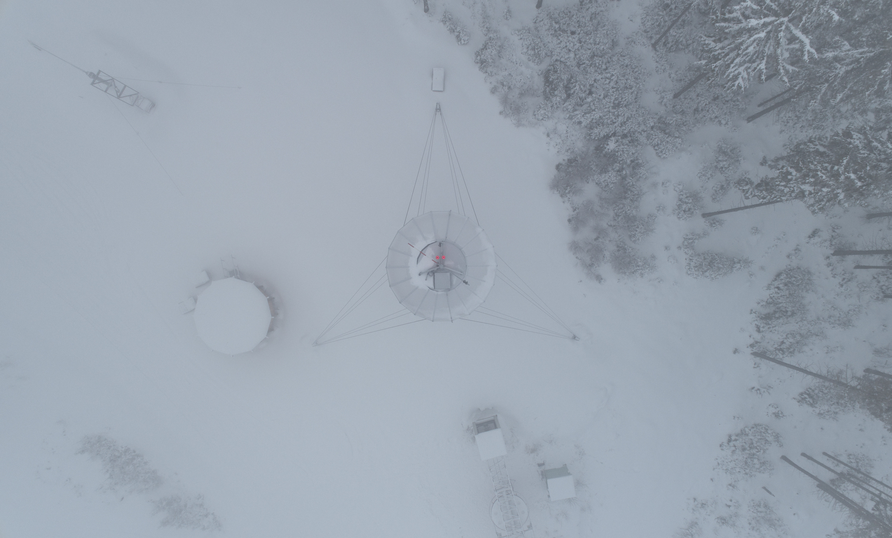
{"type": "Polygon", "coordinates": [[[272,319],[266,295],[235,277],[212,282],[198,296],[193,317],[202,341],[227,355],[257,347],[266,338],[272,319]]]}

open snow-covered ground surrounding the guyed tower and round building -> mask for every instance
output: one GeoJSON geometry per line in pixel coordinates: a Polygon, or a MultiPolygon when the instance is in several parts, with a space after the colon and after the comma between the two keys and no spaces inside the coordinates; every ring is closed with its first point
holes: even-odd
{"type": "MultiPolygon", "coordinates": [[[[533,17],[527,4],[516,17],[533,17]]],[[[790,401],[807,381],[733,352],[784,249],[821,219],[728,216],[709,241],[753,258],[780,245],[751,274],[694,280],[678,263],[594,282],[549,191],[562,156],[500,116],[474,50],[420,3],[12,0],[0,44],[4,538],[491,538],[470,430],[483,410],[500,417],[540,538],[671,536],[691,499],[726,494],[719,445],[772,402],[802,416],[784,432],[790,457],[885,443],[863,417],[825,432],[790,401]],[[129,78],[156,109],[113,101],[29,40],[129,78]],[[580,341],[425,322],[312,345],[401,228],[435,103],[496,252],[580,341]],[[282,310],[267,345],[228,357],[178,303],[197,271],[234,263],[282,310]],[[748,390],[772,376],[773,400],[748,390]],[[576,499],[549,502],[542,462],[568,465],[576,499]]],[[[772,129],[734,136],[771,151],[772,129]]],[[[714,135],[697,136],[659,179],[696,173],[714,135]]],[[[686,231],[660,223],[653,241],[686,231]]],[[[743,498],[771,502],[791,535],[841,520],[792,469],[754,484],[743,498]]]]}

